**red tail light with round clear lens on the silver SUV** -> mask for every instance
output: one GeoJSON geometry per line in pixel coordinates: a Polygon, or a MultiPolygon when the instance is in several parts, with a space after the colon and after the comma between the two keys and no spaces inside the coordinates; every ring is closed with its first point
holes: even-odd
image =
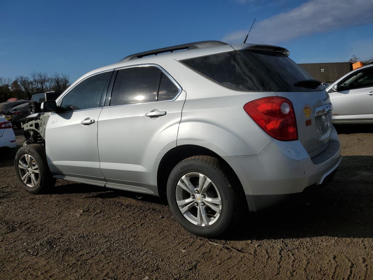
{"type": "Polygon", "coordinates": [[[289,99],[264,97],[246,103],[244,110],[273,138],[281,141],[298,140],[297,121],[289,99]]]}

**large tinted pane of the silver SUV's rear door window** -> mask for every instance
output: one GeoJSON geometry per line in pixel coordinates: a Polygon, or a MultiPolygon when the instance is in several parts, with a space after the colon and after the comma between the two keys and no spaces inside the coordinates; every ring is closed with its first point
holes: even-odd
{"type": "Polygon", "coordinates": [[[119,70],[113,86],[110,105],[156,101],[161,74],[162,71],[154,66],[119,70]]]}

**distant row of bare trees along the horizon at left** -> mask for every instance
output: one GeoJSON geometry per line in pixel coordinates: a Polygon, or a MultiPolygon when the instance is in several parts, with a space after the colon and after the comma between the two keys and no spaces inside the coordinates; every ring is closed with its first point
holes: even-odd
{"type": "Polygon", "coordinates": [[[9,98],[28,99],[35,93],[66,90],[70,85],[69,75],[46,72],[32,72],[30,77],[17,76],[15,80],[0,77],[0,103],[9,98]]]}

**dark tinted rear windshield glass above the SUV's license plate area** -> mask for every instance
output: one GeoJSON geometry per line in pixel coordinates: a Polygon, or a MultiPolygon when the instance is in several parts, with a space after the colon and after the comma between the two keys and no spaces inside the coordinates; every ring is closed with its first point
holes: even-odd
{"type": "Polygon", "coordinates": [[[259,72],[274,91],[323,90],[321,86],[310,88],[307,83],[297,84],[299,81],[312,80],[313,77],[282,53],[262,50],[241,50],[238,53],[259,72]]]}

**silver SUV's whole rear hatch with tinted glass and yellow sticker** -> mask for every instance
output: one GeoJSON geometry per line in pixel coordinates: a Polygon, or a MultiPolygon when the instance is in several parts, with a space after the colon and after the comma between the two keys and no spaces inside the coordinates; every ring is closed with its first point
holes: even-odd
{"type": "Polygon", "coordinates": [[[273,46],[238,50],[267,81],[278,96],[289,99],[297,120],[298,139],[311,158],[328,146],[331,104],[326,91],[303,68],[288,57],[288,51],[273,46]]]}

